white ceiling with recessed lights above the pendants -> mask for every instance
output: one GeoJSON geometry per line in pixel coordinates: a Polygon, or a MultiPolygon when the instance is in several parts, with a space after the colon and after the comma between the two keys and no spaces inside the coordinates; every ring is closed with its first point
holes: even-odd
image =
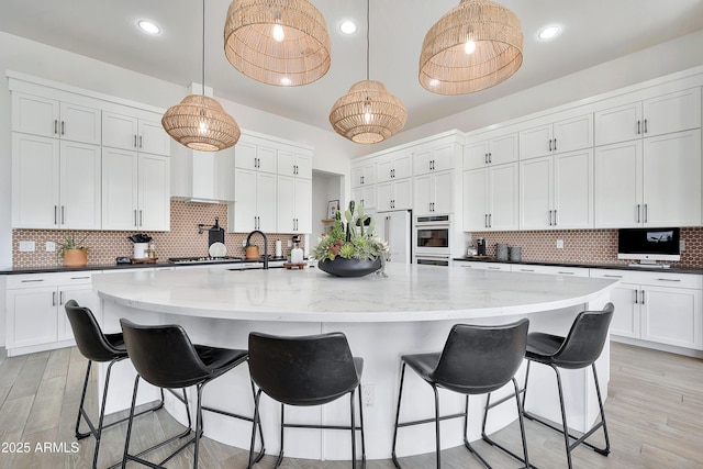
{"type": "MultiPolygon", "coordinates": [[[[311,1],[327,22],[332,66],[314,83],[282,88],[256,82],[230,65],[223,53],[230,0],[208,0],[205,83],[215,96],[330,130],[334,102],[366,79],[366,1],[311,1]],[[359,24],[352,36],[339,33],[345,19],[359,24]]],[[[370,79],[403,101],[405,130],[703,30],[703,0],[500,0],[522,22],[522,68],[492,89],[444,97],[420,86],[417,62],[427,30],[458,3],[370,2],[370,79]],[[538,31],[549,24],[560,25],[561,34],[539,41],[538,31]]],[[[198,0],[1,0],[0,30],[187,87],[202,80],[201,12],[198,0]],[[145,18],[160,25],[160,35],[137,30],[136,21],[145,18]]]]}

